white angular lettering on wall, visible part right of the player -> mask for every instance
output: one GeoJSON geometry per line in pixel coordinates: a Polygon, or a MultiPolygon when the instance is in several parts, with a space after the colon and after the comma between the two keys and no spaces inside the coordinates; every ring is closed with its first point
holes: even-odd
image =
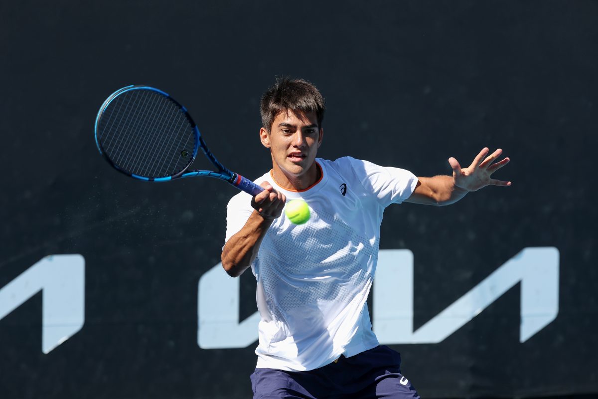
{"type": "Polygon", "coordinates": [[[374,332],[380,343],[438,343],[521,281],[520,342],[559,313],[559,251],[524,248],[480,284],[413,331],[413,254],[380,251],[374,287],[374,332]]]}

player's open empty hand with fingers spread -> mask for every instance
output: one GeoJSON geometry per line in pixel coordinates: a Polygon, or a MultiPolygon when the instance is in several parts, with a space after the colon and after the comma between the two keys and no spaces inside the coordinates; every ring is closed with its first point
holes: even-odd
{"type": "Polygon", "coordinates": [[[459,162],[453,157],[450,157],[449,164],[453,168],[454,185],[463,188],[463,190],[466,191],[477,191],[487,185],[502,185],[504,187],[511,185],[510,181],[490,178],[492,173],[507,165],[509,159],[505,158],[501,160],[501,162],[492,163],[502,154],[502,150],[499,148],[487,156],[489,152],[490,150],[487,147],[481,150],[478,156],[475,157],[474,162],[465,169],[461,169],[459,162]],[[484,159],[484,157],[486,157],[486,159],[484,159]]]}

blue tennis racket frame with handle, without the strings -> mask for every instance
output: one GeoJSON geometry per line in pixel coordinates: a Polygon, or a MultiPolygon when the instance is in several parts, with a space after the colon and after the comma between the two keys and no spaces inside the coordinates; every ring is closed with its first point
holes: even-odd
{"type": "Polygon", "coordinates": [[[231,184],[234,187],[238,188],[239,190],[243,190],[246,193],[251,194],[252,196],[256,196],[257,194],[264,191],[263,187],[260,187],[259,185],[255,184],[248,178],[245,178],[245,177],[239,175],[239,173],[232,172],[230,169],[228,169],[227,167],[222,165],[222,163],[220,163],[216,159],[216,157],[212,154],[212,151],[210,151],[210,149],[208,148],[208,145],[206,145],[206,142],[203,140],[202,135],[199,132],[199,129],[197,128],[197,124],[195,123],[193,118],[191,118],[191,115],[187,111],[187,108],[182,106],[181,103],[179,103],[177,100],[173,99],[168,93],[163,92],[162,90],[156,89],[155,87],[143,86],[143,85],[130,85],[130,86],[126,86],[121,89],[118,89],[117,91],[115,91],[114,93],[109,95],[108,98],[102,103],[102,106],[100,106],[100,110],[97,112],[96,123],[94,125],[94,139],[96,141],[97,150],[100,151],[100,154],[102,154],[104,159],[106,159],[106,161],[108,161],[108,163],[110,165],[112,165],[112,167],[114,167],[114,169],[118,170],[121,173],[124,173],[127,176],[135,178],[135,179],[139,179],[139,180],[143,180],[143,181],[163,182],[163,181],[171,181],[171,180],[179,179],[179,178],[205,176],[205,177],[211,177],[211,178],[224,180],[228,184],[231,184]],[[118,167],[117,165],[115,165],[115,163],[112,162],[112,160],[106,155],[105,151],[103,150],[102,144],[101,144],[100,140],[97,138],[98,124],[99,124],[100,118],[102,117],[103,111],[106,109],[106,107],[108,107],[108,105],[112,102],[112,100],[114,100],[118,96],[122,95],[123,93],[129,92],[131,90],[152,90],[156,93],[159,93],[160,95],[163,95],[164,97],[170,99],[172,102],[174,102],[176,105],[178,105],[181,112],[183,112],[185,114],[185,117],[191,123],[191,127],[192,127],[194,135],[195,135],[195,145],[193,148],[193,156],[191,157],[189,163],[181,170],[181,172],[176,173],[176,175],[164,176],[164,177],[159,177],[159,178],[151,178],[151,177],[146,177],[146,176],[139,176],[139,175],[136,175],[135,173],[130,173],[127,170],[124,170],[124,169],[118,167]],[[193,163],[193,161],[196,159],[197,152],[198,152],[199,148],[202,149],[203,153],[210,160],[210,162],[212,162],[212,164],[218,168],[218,171],[187,170],[188,167],[191,166],[191,163],[193,163]]]}

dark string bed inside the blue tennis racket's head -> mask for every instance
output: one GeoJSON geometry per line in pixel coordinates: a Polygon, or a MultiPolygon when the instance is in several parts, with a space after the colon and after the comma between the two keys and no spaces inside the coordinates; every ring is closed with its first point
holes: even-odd
{"type": "Polygon", "coordinates": [[[159,178],[181,172],[195,146],[193,127],[180,106],[153,90],[130,90],[103,109],[98,139],[115,166],[159,178]]]}

